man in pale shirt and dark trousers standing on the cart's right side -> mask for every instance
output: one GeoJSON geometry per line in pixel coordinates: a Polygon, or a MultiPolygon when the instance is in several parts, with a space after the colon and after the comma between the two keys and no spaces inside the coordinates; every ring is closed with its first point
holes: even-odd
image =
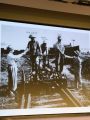
{"type": "Polygon", "coordinates": [[[61,44],[61,36],[59,35],[57,37],[57,42],[54,44],[54,48],[57,51],[56,55],[56,71],[58,72],[58,66],[60,65],[60,73],[63,69],[63,63],[64,63],[64,46],[61,44]]]}

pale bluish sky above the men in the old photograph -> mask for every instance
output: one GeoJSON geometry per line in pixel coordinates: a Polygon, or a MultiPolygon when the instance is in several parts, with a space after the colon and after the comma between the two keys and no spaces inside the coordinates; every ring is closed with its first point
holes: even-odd
{"type": "Polygon", "coordinates": [[[1,47],[6,48],[10,45],[14,49],[26,49],[30,34],[36,37],[39,44],[45,40],[48,47],[53,47],[60,34],[63,45],[69,43],[73,45],[75,40],[74,45],[80,45],[83,51],[90,51],[90,31],[88,30],[0,21],[1,47]]]}

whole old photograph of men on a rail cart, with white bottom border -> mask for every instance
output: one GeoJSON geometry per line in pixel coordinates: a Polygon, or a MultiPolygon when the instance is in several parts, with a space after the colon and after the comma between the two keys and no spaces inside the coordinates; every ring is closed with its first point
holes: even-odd
{"type": "Polygon", "coordinates": [[[90,30],[0,20],[0,116],[90,112],[90,30]]]}

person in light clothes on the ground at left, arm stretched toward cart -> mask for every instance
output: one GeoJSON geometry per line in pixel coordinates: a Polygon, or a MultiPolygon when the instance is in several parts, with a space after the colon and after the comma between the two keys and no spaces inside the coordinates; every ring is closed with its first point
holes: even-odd
{"type": "Polygon", "coordinates": [[[10,47],[7,48],[9,53],[7,55],[7,61],[8,61],[8,88],[10,95],[15,95],[17,90],[17,72],[18,67],[16,60],[22,57],[24,54],[26,54],[27,50],[25,50],[23,53],[14,55],[14,50],[10,47]]]}

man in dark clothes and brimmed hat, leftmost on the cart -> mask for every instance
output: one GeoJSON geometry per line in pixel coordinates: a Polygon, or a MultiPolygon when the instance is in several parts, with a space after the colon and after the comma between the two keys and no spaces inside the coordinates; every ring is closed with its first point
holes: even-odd
{"type": "Polygon", "coordinates": [[[35,41],[35,37],[29,35],[30,41],[28,42],[27,48],[29,50],[30,62],[32,66],[32,71],[37,71],[36,58],[40,53],[39,43],[35,41]]]}

